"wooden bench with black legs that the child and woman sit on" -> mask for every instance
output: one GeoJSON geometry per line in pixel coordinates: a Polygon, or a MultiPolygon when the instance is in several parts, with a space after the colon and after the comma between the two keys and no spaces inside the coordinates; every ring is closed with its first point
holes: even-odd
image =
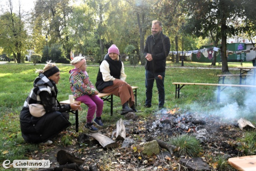
{"type": "MultiPolygon", "coordinates": [[[[137,88],[132,86],[134,97],[135,97],[135,106],[137,106],[137,88]]],[[[111,93],[99,93],[97,94],[104,102],[107,101],[110,104],[110,115],[113,116],[113,94],[111,93]]],[[[80,103],[81,101],[74,100],[74,102],[80,103]]],[[[61,101],[60,104],[70,104],[69,100],[61,101]]],[[[76,116],[76,132],[78,132],[78,110],[73,111],[69,110],[68,112],[73,113],[76,116]]]]}

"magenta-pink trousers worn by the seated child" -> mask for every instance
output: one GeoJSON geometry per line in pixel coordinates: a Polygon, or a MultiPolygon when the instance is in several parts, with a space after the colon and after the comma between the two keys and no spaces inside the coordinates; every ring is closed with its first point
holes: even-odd
{"type": "Polygon", "coordinates": [[[82,103],[86,104],[89,108],[87,112],[87,123],[92,122],[95,111],[96,111],[96,117],[101,116],[102,110],[103,110],[103,100],[99,98],[97,95],[86,94],[76,98],[76,100],[79,100],[82,103]]]}

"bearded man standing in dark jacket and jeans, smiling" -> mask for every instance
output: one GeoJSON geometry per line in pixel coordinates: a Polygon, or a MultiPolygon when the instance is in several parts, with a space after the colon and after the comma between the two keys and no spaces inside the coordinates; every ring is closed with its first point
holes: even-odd
{"type": "Polygon", "coordinates": [[[162,33],[162,23],[158,20],[152,21],[152,35],[146,39],[143,55],[146,58],[145,64],[145,85],[146,85],[146,101],[145,107],[150,108],[152,103],[152,89],[156,80],[158,90],[158,107],[164,107],[165,92],[164,92],[164,77],[166,57],[170,51],[170,39],[162,33]],[[161,75],[163,79],[158,79],[161,75]],[[155,78],[155,79],[154,79],[155,78]]]}

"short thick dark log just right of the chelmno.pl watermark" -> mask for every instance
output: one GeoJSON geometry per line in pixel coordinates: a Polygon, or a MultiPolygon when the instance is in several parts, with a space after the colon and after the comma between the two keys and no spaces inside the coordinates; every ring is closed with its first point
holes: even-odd
{"type": "Polygon", "coordinates": [[[76,163],[78,165],[81,165],[84,163],[82,159],[77,158],[73,154],[68,153],[65,150],[59,150],[57,153],[57,162],[59,162],[60,165],[64,165],[67,163],[76,163]]]}

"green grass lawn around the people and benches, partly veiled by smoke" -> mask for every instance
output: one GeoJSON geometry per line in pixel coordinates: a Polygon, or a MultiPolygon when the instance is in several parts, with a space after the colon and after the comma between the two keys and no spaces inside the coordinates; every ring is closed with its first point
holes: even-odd
{"type": "MultiPolygon", "coordinates": [[[[156,85],[153,89],[152,108],[145,109],[145,69],[144,66],[127,66],[129,61],[125,61],[126,82],[131,86],[138,86],[137,89],[137,113],[142,119],[151,115],[158,106],[158,92],[156,85]]],[[[88,63],[90,64],[90,63],[88,63]]],[[[184,67],[179,68],[181,63],[167,62],[165,76],[165,107],[173,109],[179,107],[181,110],[188,112],[202,112],[206,114],[227,115],[227,120],[232,117],[243,116],[255,123],[255,97],[254,100],[248,101],[254,96],[254,90],[248,89],[226,89],[221,92],[220,103],[216,102],[215,86],[185,86],[181,90],[180,98],[175,99],[175,86],[172,82],[201,82],[201,83],[218,83],[217,74],[221,74],[221,69],[208,69],[210,63],[197,63],[184,61],[184,67]],[[189,68],[188,68],[189,67],[189,68]],[[201,67],[203,69],[198,69],[201,67]],[[205,67],[205,69],[204,69],[205,67]],[[247,96],[247,95],[250,96],[247,96]]],[[[61,72],[61,80],[57,84],[58,100],[67,100],[71,94],[69,88],[69,70],[71,65],[58,64],[61,72]]],[[[230,65],[231,66],[231,65],[230,65]]],[[[239,65],[234,65],[239,66],[239,65]]],[[[251,62],[244,62],[243,66],[252,66],[251,62]]],[[[0,161],[9,159],[28,159],[29,153],[38,150],[38,144],[26,143],[20,132],[19,112],[23,103],[33,86],[34,79],[38,76],[36,69],[42,69],[44,65],[36,66],[29,63],[16,64],[13,62],[0,65],[0,161]]],[[[218,68],[218,67],[211,67],[218,68]]],[[[99,69],[99,64],[89,65],[87,71],[91,81],[95,84],[99,69]]],[[[233,74],[238,74],[239,70],[231,70],[233,74]]],[[[231,78],[229,81],[239,84],[238,79],[231,78]]],[[[79,131],[83,131],[83,125],[86,123],[87,106],[82,104],[83,110],[79,112],[79,131]]],[[[122,109],[120,99],[114,97],[113,116],[110,116],[109,104],[104,104],[103,121],[105,125],[113,124],[123,116],[120,115],[122,109]]],[[[74,117],[70,118],[72,126],[68,131],[75,131],[74,117]]],[[[50,150],[50,149],[45,149],[50,150]]],[[[2,162],[0,162],[2,164],[2,162]]],[[[0,166],[0,170],[3,167],[0,166]]]]}

